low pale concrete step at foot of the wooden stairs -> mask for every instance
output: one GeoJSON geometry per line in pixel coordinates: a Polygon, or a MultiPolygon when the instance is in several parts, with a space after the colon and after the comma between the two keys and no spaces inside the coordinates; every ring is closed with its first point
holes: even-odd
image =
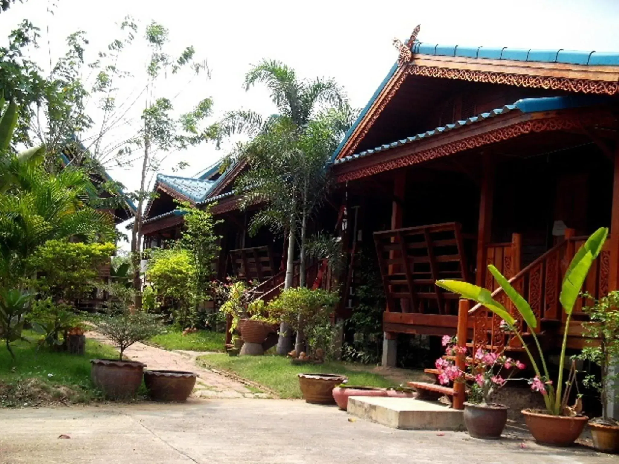
{"type": "Polygon", "coordinates": [[[394,429],[464,430],[461,410],[416,398],[350,397],[348,414],[394,429]]]}

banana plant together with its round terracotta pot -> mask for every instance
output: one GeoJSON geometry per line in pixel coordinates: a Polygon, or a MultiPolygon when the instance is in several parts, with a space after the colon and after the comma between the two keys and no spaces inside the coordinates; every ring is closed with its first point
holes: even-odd
{"type": "MultiPolygon", "coordinates": [[[[587,239],[586,243],[580,247],[578,252],[576,252],[565,272],[559,297],[561,306],[563,306],[563,310],[566,313],[565,327],[569,327],[569,320],[571,319],[574,304],[579,298],[582,284],[587,278],[591,265],[595,262],[600,251],[602,251],[602,246],[604,246],[607,235],[608,229],[605,227],[595,231],[587,239]]],[[[530,380],[531,388],[536,392],[542,393],[546,406],[545,410],[522,410],[529,431],[539,443],[568,446],[579,437],[584,425],[587,420],[589,420],[587,416],[581,415],[576,408],[568,407],[569,382],[568,385],[566,385],[565,391],[563,390],[563,366],[565,365],[565,348],[568,340],[568,330],[565,330],[563,333],[563,343],[561,344],[561,355],[559,360],[560,369],[558,378],[556,382],[553,383],[550,379],[550,374],[548,374],[544,353],[535,335],[534,329],[537,327],[537,319],[529,303],[527,303],[526,299],[511,286],[508,280],[496,267],[488,265],[488,270],[495,277],[498,285],[503,288],[505,294],[522,317],[522,320],[529,327],[529,332],[539,351],[542,369],[538,366],[536,359],[529,350],[529,346],[524,341],[521,330],[517,328],[516,319],[514,319],[501,303],[492,298],[490,290],[456,280],[439,280],[436,282],[436,285],[454,293],[459,293],[462,298],[477,301],[477,303],[487,307],[489,311],[494,312],[496,316],[503,319],[501,324],[504,325],[506,330],[514,333],[522,343],[527,356],[529,356],[531,366],[535,371],[535,377],[530,380]]],[[[574,376],[569,376],[569,381],[573,382],[574,376]]]]}

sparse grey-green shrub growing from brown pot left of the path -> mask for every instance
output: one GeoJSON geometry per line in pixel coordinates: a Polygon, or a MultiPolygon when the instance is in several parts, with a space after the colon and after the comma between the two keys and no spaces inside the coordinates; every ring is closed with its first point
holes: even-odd
{"type": "Polygon", "coordinates": [[[143,311],[124,311],[118,316],[110,314],[96,318],[97,332],[110,338],[120,350],[119,358],[123,359],[124,350],[136,342],[142,342],[162,332],[160,317],[143,311]]]}

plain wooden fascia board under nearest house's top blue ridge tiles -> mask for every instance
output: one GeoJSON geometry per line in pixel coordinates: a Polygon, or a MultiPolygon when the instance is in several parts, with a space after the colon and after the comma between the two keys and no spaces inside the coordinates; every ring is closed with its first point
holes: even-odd
{"type": "Polygon", "coordinates": [[[585,66],[545,61],[515,61],[508,59],[465,58],[415,54],[411,64],[426,67],[446,67],[465,71],[523,74],[565,79],[619,81],[619,66],[585,66]]]}

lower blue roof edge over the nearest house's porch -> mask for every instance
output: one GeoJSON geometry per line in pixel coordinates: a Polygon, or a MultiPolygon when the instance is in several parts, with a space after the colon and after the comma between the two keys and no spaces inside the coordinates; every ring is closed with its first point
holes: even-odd
{"type": "Polygon", "coordinates": [[[384,152],[390,148],[401,147],[402,145],[410,144],[416,140],[428,139],[429,137],[443,134],[444,132],[451,131],[452,129],[457,129],[462,126],[469,126],[470,124],[475,124],[476,122],[481,122],[488,118],[494,118],[495,116],[506,114],[514,110],[521,111],[521,113],[565,110],[567,108],[577,108],[579,106],[599,105],[602,103],[607,103],[611,100],[612,98],[604,95],[570,95],[568,97],[523,98],[522,100],[516,101],[512,105],[505,105],[503,108],[496,108],[496,110],[478,114],[477,116],[472,116],[471,118],[462,119],[461,121],[456,121],[453,124],[446,124],[446,126],[436,127],[436,129],[431,131],[422,132],[421,134],[413,135],[412,137],[407,137],[406,139],[397,140],[391,144],[384,144],[380,147],[372,148],[371,150],[364,150],[363,152],[356,153],[355,155],[340,158],[339,160],[335,160],[334,164],[339,165],[341,163],[347,163],[348,161],[356,160],[357,158],[363,158],[373,155],[374,153],[384,152]]]}

